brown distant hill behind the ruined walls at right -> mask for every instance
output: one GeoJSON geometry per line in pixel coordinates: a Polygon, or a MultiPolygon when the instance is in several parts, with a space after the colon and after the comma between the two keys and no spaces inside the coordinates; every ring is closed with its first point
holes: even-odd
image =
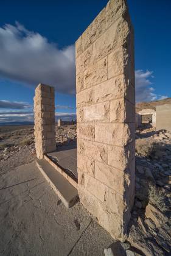
{"type": "Polygon", "coordinates": [[[161,99],[159,101],[139,102],[136,104],[136,112],[139,112],[142,109],[147,109],[147,108],[156,110],[157,105],[164,105],[164,104],[171,105],[171,98],[161,99]]]}

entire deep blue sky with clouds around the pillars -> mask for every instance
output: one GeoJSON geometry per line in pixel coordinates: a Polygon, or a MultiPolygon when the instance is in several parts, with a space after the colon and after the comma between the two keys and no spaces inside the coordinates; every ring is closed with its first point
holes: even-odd
{"type": "MultiPolygon", "coordinates": [[[[38,82],[55,83],[58,116],[74,116],[74,43],[107,2],[1,2],[0,123],[32,120],[38,82]]],[[[128,7],[135,34],[136,99],[171,97],[171,1],[128,0],[128,7]]]]}

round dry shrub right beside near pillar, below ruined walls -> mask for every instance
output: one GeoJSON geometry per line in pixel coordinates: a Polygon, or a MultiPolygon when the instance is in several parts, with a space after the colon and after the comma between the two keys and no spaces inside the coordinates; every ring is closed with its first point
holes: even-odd
{"type": "Polygon", "coordinates": [[[148,157],[154,152],[153,142],[147,139],[136,140],[136,153],[142,157],[148,157]]]}

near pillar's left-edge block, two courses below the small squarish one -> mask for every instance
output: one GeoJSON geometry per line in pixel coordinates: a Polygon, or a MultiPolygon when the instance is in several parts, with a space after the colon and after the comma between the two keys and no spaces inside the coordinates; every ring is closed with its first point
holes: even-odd
{"type": "Polygon", "coordinates": [[[92,157],[86,157],[82,154],[77,154],[77,166],[81,172],[94,176],[95,163],[92,157]]]}

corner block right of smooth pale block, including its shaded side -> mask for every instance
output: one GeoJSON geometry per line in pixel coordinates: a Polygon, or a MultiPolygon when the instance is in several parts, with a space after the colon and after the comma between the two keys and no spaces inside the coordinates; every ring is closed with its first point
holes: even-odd
{"type": "Polygon", "coordinates": [[[110,102],[110,123],[135,123],[135,108],[127,99],[114,99],[110,102]]]}

